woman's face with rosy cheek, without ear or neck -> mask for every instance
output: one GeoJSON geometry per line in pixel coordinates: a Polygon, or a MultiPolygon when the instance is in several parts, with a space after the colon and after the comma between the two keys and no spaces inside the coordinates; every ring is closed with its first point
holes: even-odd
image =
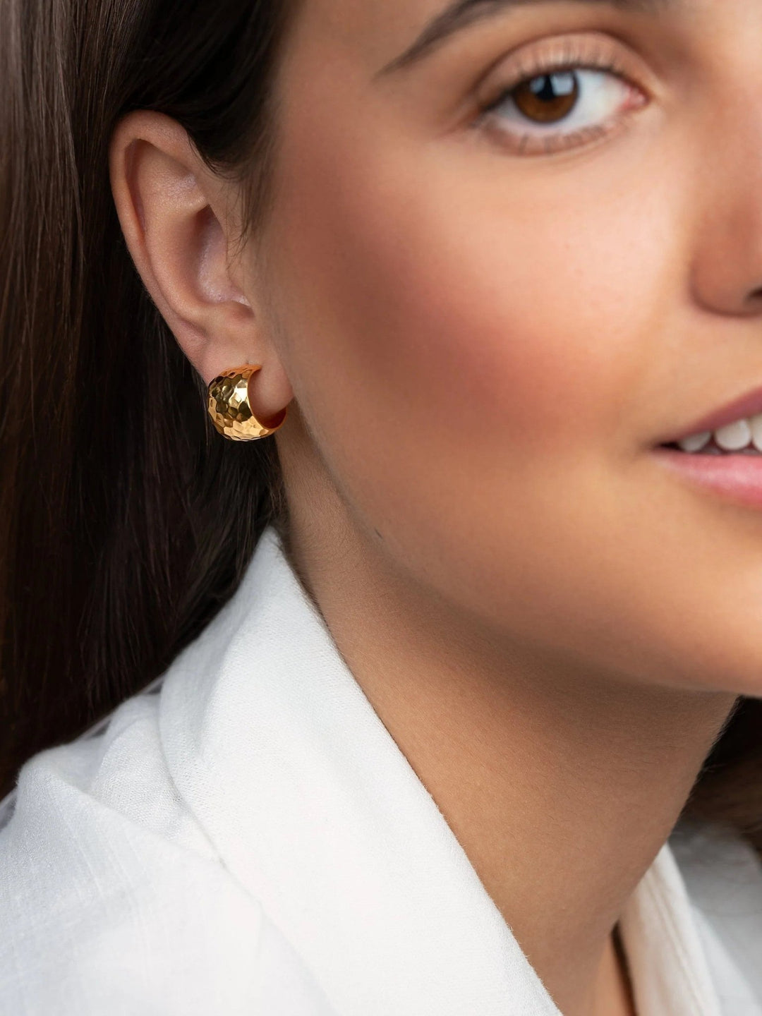
{"type": "Polygon", "coordinates": [[[762,504],[762,456],[656,450],[762,386],[762,4],[456,7],[389,69],[442,0],[289,40],[262,289],[320,461],[506,639],[762,695],[762,508],[683,468],[762,504]]]}

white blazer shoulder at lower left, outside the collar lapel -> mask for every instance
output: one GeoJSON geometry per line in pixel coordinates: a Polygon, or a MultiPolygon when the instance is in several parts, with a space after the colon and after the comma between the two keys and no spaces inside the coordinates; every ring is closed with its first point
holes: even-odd
{"type": "Polygon", "coordinates": [[[2,1016],[254,1013],[279,981],[291,1011],[323,1011],[298,1002],[315,998],[298,957],[179,796],[158,703],[138,695],[22,767],[0,830],[2,1016]]]}

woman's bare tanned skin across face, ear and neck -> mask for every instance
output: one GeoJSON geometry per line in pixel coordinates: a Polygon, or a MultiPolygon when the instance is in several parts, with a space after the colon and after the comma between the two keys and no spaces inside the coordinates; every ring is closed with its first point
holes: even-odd
{"type": "Polygon", "coordinates": [[[632,1014],[612,932],[762,695],[762,515],[651,453],[762,382],[762,5],[527,5],[378,76],[441,7],[305,0],[240,256],[238,186],[162,114],[117,126],[114,198],[204,381],[262,364],[255,412],[289,405],[305,588],[557,1005],[632,1014]],[[474,128],[567,35],[627,74],[594,71],[618,129],[474,128]]]}

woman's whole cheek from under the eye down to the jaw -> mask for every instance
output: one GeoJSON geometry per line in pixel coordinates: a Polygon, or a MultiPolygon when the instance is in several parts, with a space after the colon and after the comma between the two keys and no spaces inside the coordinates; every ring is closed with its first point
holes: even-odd
{"type": "Polygon", "coordinates": [[[619,553],[638,504],[669,188],[644,194],[626,150],[535,174],[335,97],[285,123],[268,291],[334,483],[447,594],[499,609],[536,587],[541,609],[619,553]]]}

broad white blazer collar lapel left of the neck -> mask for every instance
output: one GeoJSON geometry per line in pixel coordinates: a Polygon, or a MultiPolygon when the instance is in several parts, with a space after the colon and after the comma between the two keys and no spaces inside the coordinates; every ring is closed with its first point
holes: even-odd
{"type": "Polygon", "coordinates": [[[160,709],[181,796],[340,1016],[561,1016],[271,526],[160,709]]]}

